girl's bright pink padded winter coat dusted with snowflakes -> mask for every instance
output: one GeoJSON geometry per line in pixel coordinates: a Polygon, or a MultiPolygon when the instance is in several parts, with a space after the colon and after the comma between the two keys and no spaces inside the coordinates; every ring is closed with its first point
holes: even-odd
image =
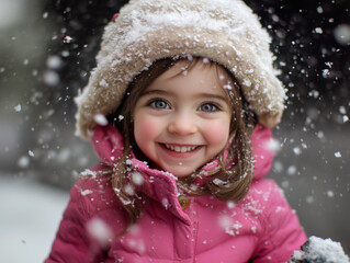
{"type": "MultiPolygon", "coordinates": [[[[176,179],[134,159],[133,176],[150,201],[124,235],[118,233],[125,229],[127,216],[106,178],[79,179],[45,263],[286,262],[306,237],[282,191],[272,180],[263,179],[273,160],[264,147],[271,137],[270,129],[256,127],[251,138],[255,178],[238,204],[203,195],[189,197],[189,206],[182,209],[176,179]]],[[[116,129],[99,127],[93,141],[104,163],[94,170],[113,165],[121,153],[116,129]]]]}

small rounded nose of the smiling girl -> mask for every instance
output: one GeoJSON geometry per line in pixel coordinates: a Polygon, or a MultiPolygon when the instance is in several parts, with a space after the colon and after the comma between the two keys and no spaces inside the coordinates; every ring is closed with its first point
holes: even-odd
{"type": "Polygon", "coordinates": [[[191,135],[197,132],[195,119],[188,114],[178,114],[170,118],[168,132],[177,135],[191,135]]]}

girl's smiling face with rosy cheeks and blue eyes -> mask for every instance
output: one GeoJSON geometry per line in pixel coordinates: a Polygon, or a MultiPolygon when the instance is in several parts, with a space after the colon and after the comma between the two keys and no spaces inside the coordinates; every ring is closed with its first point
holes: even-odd
{"type": "Polygon", "coordinates": [[[219,66],[180,60],[136,102],[134,137],[153,168],[185,176],[216,157],[229,138],[229,82],[219,66]],[[219,76],[219,77],[218,77],[219,76]]]}

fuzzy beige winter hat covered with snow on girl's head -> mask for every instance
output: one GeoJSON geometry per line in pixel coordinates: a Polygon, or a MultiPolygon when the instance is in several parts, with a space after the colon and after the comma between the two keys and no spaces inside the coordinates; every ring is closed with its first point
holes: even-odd
{"type": "Polygon", "coordinates": [[[239,82],[262,125],[273,127],[284,110],[270,36],[241,0],[131,0],[110,22],[89,83],[76,98],[77,134],[90,138],[97,114],[120,105],[128,83],[154,61],[206,57],[239,82]]]}

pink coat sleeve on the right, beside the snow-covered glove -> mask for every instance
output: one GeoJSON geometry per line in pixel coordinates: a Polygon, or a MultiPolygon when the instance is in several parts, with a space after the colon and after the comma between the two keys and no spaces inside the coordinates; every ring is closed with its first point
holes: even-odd
{"type": "Polygon", "coordinates": [[[290,207],[282,191],[274,182],[272,182],[272,187],[267,206],[267,217],[262,222],[263,235],[252,261],[255,263],[287,262],[294,250],[298,250],[307,240],[297,216],[290,207]]]}

